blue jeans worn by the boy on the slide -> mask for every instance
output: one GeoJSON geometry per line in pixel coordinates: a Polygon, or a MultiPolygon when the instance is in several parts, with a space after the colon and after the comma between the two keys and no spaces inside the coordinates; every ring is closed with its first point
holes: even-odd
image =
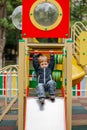
{"type": "Polygon", "coordinates": [[[45,98],[46,92],[49,93],[49,95],[55,95],[56,90],[56,82],[54,80],[48,81],[46,84],[38,83],[36,87],[36,92],[39,98],[45,98]]]}

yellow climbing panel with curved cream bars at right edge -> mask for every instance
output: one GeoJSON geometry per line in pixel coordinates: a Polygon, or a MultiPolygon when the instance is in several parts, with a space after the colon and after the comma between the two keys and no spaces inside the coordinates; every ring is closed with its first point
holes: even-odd
{"type": "Polygon", "coordinates": [[[73,54],[77,63],[81,66],[87,65],[87,27],[81,23],[76,22],[71,29],[71,38],[74,41],[73,54]]]}

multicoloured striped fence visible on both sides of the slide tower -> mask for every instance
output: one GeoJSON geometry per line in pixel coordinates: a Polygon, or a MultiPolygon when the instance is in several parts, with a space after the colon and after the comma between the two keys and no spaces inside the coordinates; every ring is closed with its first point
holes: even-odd
{"type": "MultiPolygon", "coordinates": [[[[18,94],[18,65],[0,70],[0,97],[12,98],[18,94]]],[[[87,75],[72,87],[72,97],[87,97],[87,75]]]]}

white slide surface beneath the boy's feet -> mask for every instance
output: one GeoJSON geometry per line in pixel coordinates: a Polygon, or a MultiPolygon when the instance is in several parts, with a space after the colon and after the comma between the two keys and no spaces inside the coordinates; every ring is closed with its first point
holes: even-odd
{"type": "Polygon", "coordinates": [[[66,130],[64,98],[46,99],[41,106],[37,98],[26,100],[25,130],[66,130]]]}

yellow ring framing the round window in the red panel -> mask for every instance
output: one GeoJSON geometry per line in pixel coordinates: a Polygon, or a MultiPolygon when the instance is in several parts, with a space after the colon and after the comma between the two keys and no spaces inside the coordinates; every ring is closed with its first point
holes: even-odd
{"type": "Polygon", "coordinates": [[[61,8],[60,4],[56,0],[37,0],[31,6],[31,9],[30,9],[30,12],[29,12],[29,17],[30,17],[30,20],[31,20],[32,24],[36,28],[38,28],[40,30],[44,30],[44,31],[49,31],[49,30],[52,30],[52,29],[56,28],[60,24],[60,22],[62,20],[62,17],[63,17],[63,12],[62,12],[62,8],[61,8]],[[56,20],[54,21],[54,23],[51,24],[51,25],[46,25],[46,26],[45,25],[41,25],[35,19],[34,11],[35,11],[35,9],[36,9],[36,7],[38,5],[43,4],[43,3],[52,4],[58,10],[58,16],[57,16],[56,20]]]}

